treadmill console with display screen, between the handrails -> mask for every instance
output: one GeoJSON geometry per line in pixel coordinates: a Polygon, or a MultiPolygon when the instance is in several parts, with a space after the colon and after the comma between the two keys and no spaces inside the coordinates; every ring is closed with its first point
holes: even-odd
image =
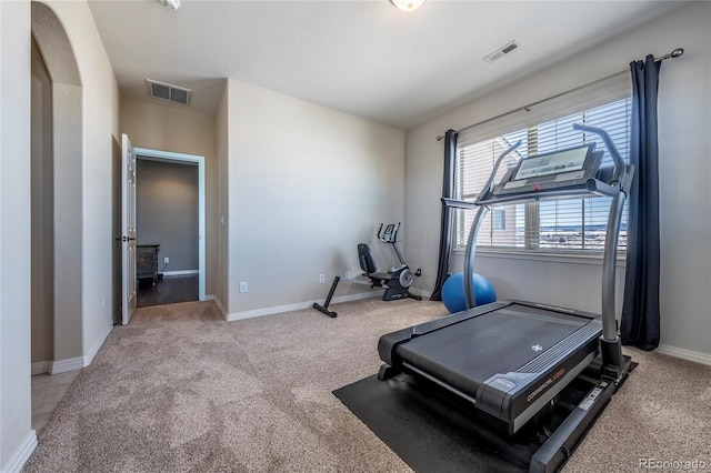
{"type": "Polygon", "coordinates": [[[503,197],[584,185],[588,179],[595,178],[602,160],[603,153],[594,149],[595,143],[589,143],[522,159],[494,187],[492,194],[503,197]]]}

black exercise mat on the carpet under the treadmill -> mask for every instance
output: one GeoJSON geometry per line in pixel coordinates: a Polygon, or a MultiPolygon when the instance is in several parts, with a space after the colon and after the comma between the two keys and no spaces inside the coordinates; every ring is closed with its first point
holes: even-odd
{"type": "Polygon", "coordinates": [[[472,405],[414,376],[372,375],[333,394],[417,472],[529,470],[531,445],[497,434],[472,405]]]}

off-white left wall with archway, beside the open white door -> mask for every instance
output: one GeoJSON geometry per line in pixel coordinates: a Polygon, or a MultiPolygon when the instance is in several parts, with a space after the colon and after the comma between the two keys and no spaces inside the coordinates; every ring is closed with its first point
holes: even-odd
{"type": "MultiPolygon", "coordinates": [[[[54,252],[61,271],[54,279],[54,373],[89,364],[113,328],[111,160],[119,88],[86,2],[32,2],[31,13],[53,93],[54,248],[61,249],[54,252]]],[[[29,42],[28,36],[28,60],[29,42]]]]}

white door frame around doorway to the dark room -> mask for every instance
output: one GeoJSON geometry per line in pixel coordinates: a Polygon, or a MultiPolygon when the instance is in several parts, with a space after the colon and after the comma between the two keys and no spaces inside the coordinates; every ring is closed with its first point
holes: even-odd
{"type": "MultiPolygon", "coordinates": [[[[198,164],[198,298],[206,299],[206,189],[204,189],[204,157],[197,154],[176,153],[172,151],[133,148],[137,159],[148,158],[156,161],[173,162],[178,164],[198,164]]],[[[137,229],[140,232],[140,229],[137,229]]]]}

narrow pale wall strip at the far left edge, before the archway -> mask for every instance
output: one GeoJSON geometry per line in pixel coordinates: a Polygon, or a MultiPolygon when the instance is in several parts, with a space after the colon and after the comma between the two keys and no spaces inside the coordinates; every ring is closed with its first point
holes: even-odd
{"type": "Polygon", "coordinates": [[[0,1],[0,471],[19,471],[30,427],[30,3],[0,1]]]}

